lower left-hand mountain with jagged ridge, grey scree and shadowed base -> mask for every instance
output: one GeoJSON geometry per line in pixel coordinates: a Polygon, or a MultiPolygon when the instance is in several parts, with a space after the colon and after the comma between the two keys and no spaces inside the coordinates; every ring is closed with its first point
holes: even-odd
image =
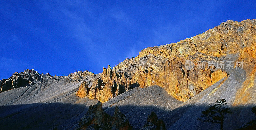
{"type": "Polygon", "coordinates": [[[89,71],[68,76],[38,74],[34,69],[14,73],[2,85],[14,89],[0,93],[0,129],[71,128],[98,102],[76,96],[79,81],[90,82],[94,77],[89,71]]]}

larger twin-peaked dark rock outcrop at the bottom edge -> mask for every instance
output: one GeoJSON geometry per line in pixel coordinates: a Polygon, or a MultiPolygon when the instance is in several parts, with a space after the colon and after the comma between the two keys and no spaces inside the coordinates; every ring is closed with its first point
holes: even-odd
{"type": "Polygon", "coordinates": [[[96,105],[90,106],[87,113],[80,119],[75,129],[78,130],[132,130],[129,119],[120,112],[116,106],[114,116],[108,115],[102,109],[99,101],[96,105]]]}

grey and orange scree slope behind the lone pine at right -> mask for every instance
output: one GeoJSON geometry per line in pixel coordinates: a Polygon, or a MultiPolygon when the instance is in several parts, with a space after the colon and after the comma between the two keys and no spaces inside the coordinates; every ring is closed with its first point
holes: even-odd
{"type": "Polygon", "coordinates": [[[218,129],[219,124],[200,122],[197,118],[200,117],[202,111],[212,106],[216,100],[224,98],[233,112],[224,119],[224,129],[242,127],[245,123],[254,119],[251,107],[256,104],[256,86],[254,84],[250,88],[247,86],[248,81],[249,83],[255,82],[255,78],[251,80],[251,76],[248,77],[248,75],[256,75],[254,69],[254,65],[251,65],[245,66],[243,70],[230,71],[227,78],[223,78],[160,118],[164,121],[170,120],[166,122],[166,127],[169,130],[218,129]]]}

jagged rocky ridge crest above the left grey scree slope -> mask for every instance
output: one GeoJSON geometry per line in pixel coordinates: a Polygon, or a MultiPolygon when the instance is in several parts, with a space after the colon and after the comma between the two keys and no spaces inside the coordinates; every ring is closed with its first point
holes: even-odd
{"type": "Polygon", "coordinates": [[[88,80],[94,76],[94,73],[87,70],[84,72],[78,71],[71,73],[68,76],[51,76],[49,73],[39,74],[34,69],[26,69],[24,72],[16,72],[12,74],[12,76],[8,79],[0,80],[0,92],[11,90],[13,88],[26,87],[36,83],[47,84],[48,80],[80,82],[81,80],[88,80]]]}

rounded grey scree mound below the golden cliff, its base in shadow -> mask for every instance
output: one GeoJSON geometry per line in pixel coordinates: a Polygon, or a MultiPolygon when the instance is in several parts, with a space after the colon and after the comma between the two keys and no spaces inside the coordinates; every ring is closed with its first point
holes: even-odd
{"type": "Polygon", "coordinates": [[[120,111],[129,118],[133,128],[138,129],[145,124],[147,115],[151,111],[154,111],[157,116],[161,116],[181,103],[183,102],[169,95],[164,88],[154,85],[143,89],[133,88],[103,103],[103,108],[107,113],[113,115],[117,105],[120,111]]]}

